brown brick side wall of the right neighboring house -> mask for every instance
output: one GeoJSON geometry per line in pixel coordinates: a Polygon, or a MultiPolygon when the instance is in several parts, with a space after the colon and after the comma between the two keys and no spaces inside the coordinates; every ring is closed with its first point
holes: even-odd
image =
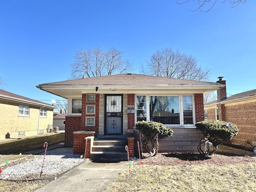
{"type": "Polygon", "coordinates": [[[256,102],[226,106],[226,121],[238,126],[238,135],[232,142],[238,145],[252,146],[256,141],[256,102]]]}

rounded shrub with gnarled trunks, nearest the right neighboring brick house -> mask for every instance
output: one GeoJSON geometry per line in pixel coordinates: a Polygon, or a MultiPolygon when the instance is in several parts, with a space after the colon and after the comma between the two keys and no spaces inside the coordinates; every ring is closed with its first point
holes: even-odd
{"type": "MultiPolygon", "coordinates": [[[[219,144],[229,142],[238,134],[236,124],[225,121],[201,121],[196,123],[196,129],[202,132],[204,140],[208,140],[214,146],[214,151],[209,154],[214,154],[219,144]]],[[[201,147],[198,151],[202,151],[201,147]]]]}

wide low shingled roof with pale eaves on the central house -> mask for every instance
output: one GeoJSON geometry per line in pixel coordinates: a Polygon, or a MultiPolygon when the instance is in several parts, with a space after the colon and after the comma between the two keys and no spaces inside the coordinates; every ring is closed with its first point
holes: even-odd
{"type": "Polygon", "coordinates": [[[206,93],[217,90],[218,88],[221,88],[223,86],[224,85],[216,82],[204,82],[126,73],[44,83],[36,87],[46,92],[61,96],[63,98],[74,98],[82,96],[82,93],[206,93]]]}

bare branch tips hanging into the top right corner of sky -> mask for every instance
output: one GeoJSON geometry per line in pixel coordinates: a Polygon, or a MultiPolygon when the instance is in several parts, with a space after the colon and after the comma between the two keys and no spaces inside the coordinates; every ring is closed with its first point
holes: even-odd
{"type": "MultiPolygon", "coordinates": [[[[190,0],[182,0],[182,2],[177,2],[177,4],[185,4],[187,2],[189,2],[190,0]]],[[[213,6],[216,4],[217,0],[196,0],[198,2],[198,8],[196,8],[195,10],[192,11],[202,11],[202,12],[208,12],[210,11],[213,6]],[[209,6],[208,6],[209,5],[209,6]],[[208,6],[208,8],[206,8],[206,11],[203,10],[204,7],[208,6]]],[[[221,3],[225,3],[227,0],[220,0],[221,3]]],[[[230,7],[234,8],[236,6],[238,6],[240,3],[244,4],[246,2],[246,0],[228,0],[228,2],[230,3],[230,7]]]]}

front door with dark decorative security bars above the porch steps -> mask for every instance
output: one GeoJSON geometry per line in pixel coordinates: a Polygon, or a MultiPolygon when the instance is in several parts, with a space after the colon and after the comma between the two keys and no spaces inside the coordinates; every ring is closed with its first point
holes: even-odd
{"type": "Polygon", "coordinates": [[[105,135],[122,135],[122,95],[105,96],[105,135]]]}

